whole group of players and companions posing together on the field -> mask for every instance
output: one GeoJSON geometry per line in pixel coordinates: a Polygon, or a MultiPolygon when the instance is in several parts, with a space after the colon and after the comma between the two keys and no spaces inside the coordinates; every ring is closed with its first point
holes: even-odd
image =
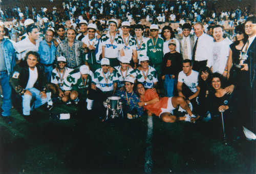
{"type": "Polygon", "coordinates": [[[0,27],[2,118],[7,122],[13,88],[27,120],[33,119],[32,110],[41,105],[51,110],[58,99],[84,103],[92,114],[102,116],[103,102],[118,96],[129,119],[143,111],[170,123],[215,120],[227,113],[230,127],[241,126],[230,121],[236,117],[253,124],[255,16],[236,27],[233,43],[224,38],[223,26],[214,25],[206,34],[200,22],[184,23],[176,35],[170,26],[137,24],[132,35],[129,21],[118,29],[118,20],[112,18],[100,34],[97,25],[80,19],[79,34],[58,25],[57,37],[52,29],[39,35],[32,19],[24,24],[26,34],[18,42],[5,38],[0,27]],[[175,116],[175,110],[185,115],[175,116]]]}

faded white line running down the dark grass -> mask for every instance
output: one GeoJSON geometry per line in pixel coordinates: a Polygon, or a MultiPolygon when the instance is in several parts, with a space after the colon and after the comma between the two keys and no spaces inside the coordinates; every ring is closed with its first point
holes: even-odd
{"type": "Polygon", "coordinates": [[[153,116],[147,116],[147,136],[146,136],[146,154],[145,154],[145,173],[152,172],[152,135],[153,135],[153,116]]]}

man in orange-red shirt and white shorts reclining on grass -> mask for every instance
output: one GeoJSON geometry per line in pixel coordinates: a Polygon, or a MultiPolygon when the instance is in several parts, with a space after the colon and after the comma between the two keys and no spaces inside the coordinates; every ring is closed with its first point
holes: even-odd
{"type": "MultiPolygon", "coordinates": [[[[155,114],[159,116],[161,120],[167,123],[174,123],[176,121],[189,121],[195,122],[197,117],[193,115],[187,102],[182,97],[162,97],[160,98],[158,94],[153,89],[145,88],[142,83],[138,82],[135,86],[135,90],[138,93],[141,102],[138,103],[139,106],[147,111],[148,116],[155,114]],[[187,114],[184,117],[177,117],[173,115],[173,110],[178,106],[181,106],[187,114]]],[[[199,117],[199,116],[198,116],[199,117]]]]}

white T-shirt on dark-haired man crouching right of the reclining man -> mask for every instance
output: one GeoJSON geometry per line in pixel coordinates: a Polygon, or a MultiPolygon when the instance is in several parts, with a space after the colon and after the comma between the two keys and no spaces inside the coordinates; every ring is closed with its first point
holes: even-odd
{"type": "Polygon", "coordinates": [[[186,76],[186,74],[181,71],[178,76],[178,81],[185,83],[188,88],[193,92],[197,92],[197,86],[198,86],[198,72],[192,70],[191,74],[189,76],[186,76]]]}

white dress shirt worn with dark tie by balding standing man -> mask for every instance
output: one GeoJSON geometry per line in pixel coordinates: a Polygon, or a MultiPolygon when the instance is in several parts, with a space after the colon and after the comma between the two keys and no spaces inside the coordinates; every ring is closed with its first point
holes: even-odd
{"type": "MultiPolygon", "coordinates": [[[[206,66],[210,68],[212,66],[212,48],[214,45],[214,38],[212,38],[208,34],[203,33],[198,39],[199,40],[197,43],[195,60],[196,61],[208,60],[206,66]]],[[[195,43],[196,43],[196,40],[197,40],[197,37],[195,36],[195,43]]]]}

